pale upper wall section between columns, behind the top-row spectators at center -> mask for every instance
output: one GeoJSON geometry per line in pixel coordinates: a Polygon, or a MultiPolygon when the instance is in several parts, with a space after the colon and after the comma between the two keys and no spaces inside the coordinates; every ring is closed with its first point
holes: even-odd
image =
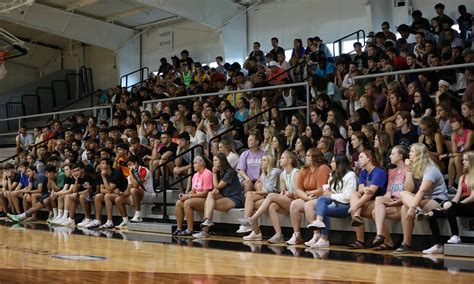
{"type": "MultiPolygon", "coordinates": [[[[358,29],[369,29],[366,0],[295,0],[263,5],[248,12],[248,46],[259,41],[262,50],[271,48],[270,39],[279,38],[280,46],[293,47],[293,39],[319,36],[333,42],[358,29]]],[[[332,46],[329,46],[332,48],[332,46]]]]}

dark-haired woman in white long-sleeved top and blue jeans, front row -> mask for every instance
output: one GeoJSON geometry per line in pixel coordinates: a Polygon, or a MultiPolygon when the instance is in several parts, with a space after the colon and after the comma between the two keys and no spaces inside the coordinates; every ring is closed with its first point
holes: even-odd
{"type": "Polygon", "coordinates": [[[346,218],[349,216],[349,198],[357,190],[357,175],[352,170],[349,160],[344,154],[337,154],[331,160],[331,177],[323,195],[316,200],[316,220],[308,225],[316,234],[318,241],[311,247],[329,246],[330,217],[346,218]]]}

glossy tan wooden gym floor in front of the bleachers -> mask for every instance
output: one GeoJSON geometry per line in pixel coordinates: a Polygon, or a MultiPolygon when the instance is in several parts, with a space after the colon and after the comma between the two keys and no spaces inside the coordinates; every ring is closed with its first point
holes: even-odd
{"type": "Polygon", "coordinates": [[[305,251],[231,237],[193,241],[5,220],[0,238],[0,283],[474,283],[474,258],[337,246],[305,251]]]}

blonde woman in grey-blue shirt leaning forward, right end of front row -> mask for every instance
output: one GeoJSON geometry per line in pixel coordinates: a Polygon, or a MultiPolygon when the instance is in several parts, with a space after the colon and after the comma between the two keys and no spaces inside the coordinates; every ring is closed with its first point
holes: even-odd
{"type": "MultiPolygon", "coordinates": [[[[415,215],[440,208],[441,203],[448,199],[444,178],[433,160],[430,158],[428,148],[416,143],[410,148],[409,170],[406,175],[405,191],[400,193],[403,202],[401,220],[403,227],[403,242],[395,253],[412,252],[411,241],[415,215]]],[[[442,248],[437,248],[442,252],[442,248]]],[[[434,250],[431,253],[435,253],[434,250]]]]}

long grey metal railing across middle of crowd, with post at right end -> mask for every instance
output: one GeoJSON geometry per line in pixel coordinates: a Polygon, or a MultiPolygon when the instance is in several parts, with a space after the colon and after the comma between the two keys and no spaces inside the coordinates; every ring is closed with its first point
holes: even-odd
{"type": "Polygon", "coordinates": [[[276,89],[286,89],[286,88],[293,88],[293,87],[302,87],[306,86],[306,105],[300,107],[291,107],[291,108],[278,108],[280,111],[286,110],[296,110],[296,109],[306,109],[308,115],[306,117],[306,123],[309,123],[310,120],[310,113],[311,113],[311,95],[310,95],[310,85],[308,82],[301,82],[301,83],[292,83],[292,84],[285,84],[285,85],[278,85],[278,86],[269,86],[269,87],[260,87],[260,88],[252,88],[252,89],[245,89],[245,90],[233,90],[233,91],[226,91],[226,92],[216,92],[216,93],[206,93],[206,94],[198,94],[198,95],[190,95],[185,97],[170,97],[164,99],[157,99],[157,100],[148,100],[142,102],[142,108],[146,109],[146,105],[158,103],[158,102],[168,102],[168,101],[183,101],[189,99],[201,99],[205,97],[212,97],[212,96],[222,96],[222,95],[229,95],[232,94],[234,105],[236,105],[236,96],[237,93],[251,93],[251,92],[259,92],[259,91],[268,91],[268,90],[276,90],[276,89]]]}

